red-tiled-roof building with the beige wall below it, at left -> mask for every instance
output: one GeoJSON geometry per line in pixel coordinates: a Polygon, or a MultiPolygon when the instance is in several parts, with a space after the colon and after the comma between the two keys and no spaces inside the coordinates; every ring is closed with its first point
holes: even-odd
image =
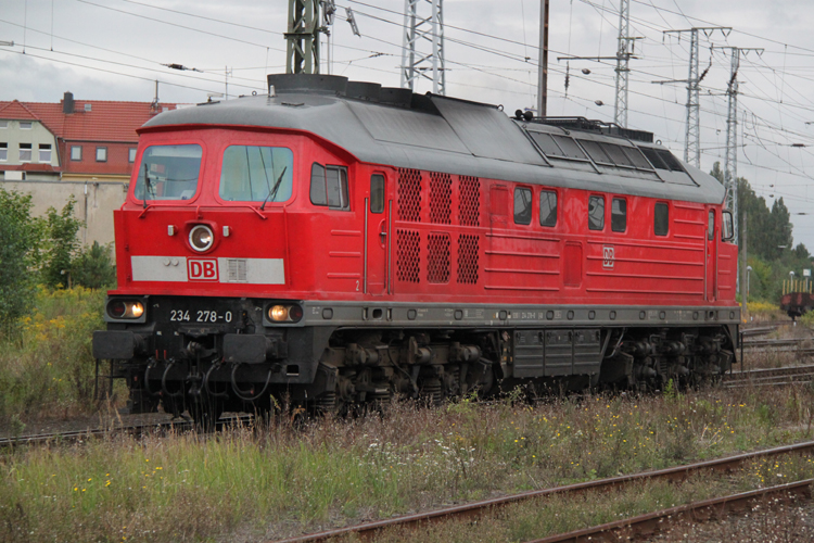
{"type": "Polygon", "coordinates": [[[35,214],[62,210],[73,195],[81,241],[113,241],[136,161],[136,129],[176,104],[75,100],[0,101],[0,188],[28,192],[35,214]]]}

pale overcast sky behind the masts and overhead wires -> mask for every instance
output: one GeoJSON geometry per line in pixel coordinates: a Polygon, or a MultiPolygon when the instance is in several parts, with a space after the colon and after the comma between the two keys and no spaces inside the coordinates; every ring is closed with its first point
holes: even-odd
{"type": "MultiPolygon", "coordinates": [[[[550,1],[548,114],[612,121],[615,62],[558,56],[614,55],[619,0],[550,1]]],[[[783,197],[794,243],[814,251],[811,0],[629,1],[629,34],[643,39],[631,61],[628,126],[654,132],[679,157],[686,84],[653,81],[686,80],[689,35],[663,30],[732,27],[700,33],[701,72],[709,67],[701,83],[704,171],[725,155],[732,61],[717,48],[763,50],[741,53],[738,175],[770,206],[783,197]]],[[[336,0],[331,73],[399,86],[404,3],[336,0]],[[345,21],[347,7],[361,37],[345,21]]],[[[429,14],[428,2],[421,8],[429,14]]],[[[149,102],[156,79],[166,102],[264,92],[265,74],[285,70],[287,9],[284,0],[0,0],[0,42],[14,42],[0,46],[0,100],[56,102],[69,90],[76,99],[149,102]],[[202,73],[162,66],[169,63],[202,73]]],[[[446,93],[509,112],[534,106],[539,9],[539,0],[445,0],[446,93]]],[[[416,90],[432,90],[431,83],[416,90]]]]}

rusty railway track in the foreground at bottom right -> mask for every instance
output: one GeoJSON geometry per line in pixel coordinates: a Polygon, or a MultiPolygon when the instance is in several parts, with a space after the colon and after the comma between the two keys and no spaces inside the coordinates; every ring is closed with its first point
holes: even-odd
{"type": "MultiPolygon", "coordinates": [[[[814,441],[805,442],[805,443],[798,443],[794,445],[787,445],[776,449],[770,449],[765,451],[758,451],[753,453],[746,453],[746,454],[739,454],[735,456],[728,456],[725,458],[717,458],[714,460],[708,460],[708,462],[701,462],[697,464],[691,464],[687,466],[677,466],[674,468],[669,469],[661,469],[657,471],[647,471],[644,473],[635,473],[635,475],[628,475],[628,476],[621,476],[621,477],[612,477],[609,479],[600,479],[596,481],[587,481],[587,482],[581,482],[576,484],[569,484],[567,487],[557,487],[552,489],[544,489],[544,490],[534,490],[529,492],[522,492],[519,494],[511,494],[508,496],[492,498],[492,500],[484,500],[481,502],[474,502],[470,504],[465,505],[458,505],[454,507],[446,507],[443,509],[436,509],[425,513],[418,513],[415,515],[406,515],[402,517],[395,517],[390,518],[385,520],[379,520],[376,522],[366,522],[364,525],[357,525],[357,526],[349,526],[344,528],[338,528],[334,530],[327,530],[318,533],[311,533],[306,535],[301,535],[296,538],[290,538],[285,540],[279,540],[277,543],[315,543],[315,542],[322,542],[322,541],[329,541],[335,538],[357,538],[357,539],[365,539],[370,540],[374,538],[378,533],[380,533],[382,530],[385,529],[416,529],[416,528],[425,528],[429,525],[440,523],[440,522],[446,522],[451,520],[459,520],[459,519],[478,519],[482,518],[488,515],[496,514],[500,508],[506,507],[508,505],[513,504],[521,504],[524,502],[530,502],[532,500],[537,500],[546,496],[552,496],[552,495],[576,495],[580,493],[585,492],[593,492],[593,491],[608,491],[613,489],[619,489],[625,485],[629,485],[632,483],[636,482],[643,482],[643,481],[683,481],[686,480],[690,475],[697,473],[699,471],[705,471],[705,470],[714,470],[714,471],[732,471],[735,470],[741,466],[743,466],[746,463],[759,459],[759,458],[772,458],[781,456],[785,454],[805,454],[805,453],[812,453],[814,452],[814,441]]],[[[804,493],[803,488],[810,488],[811,483],[814,481],[804,481],[799,483],[799,488],[791,489],[791,487],[788,487],[787,489],[777,492],[799,492],[804,493]]],[[[758,493],[751,493],[753,495],[747,496],[745,495],[737,497],[736,496],[727,496],[733,504],[736,502],[740,503],[750,503],[749,500],[758,500],[760,496],[766,495],[764,491],[767,491],[768,489],[763,489],[763,491],[758,491],[758,493]],[[760,492],[764,492],[763,494],[760,494],[760,492]]],[[[810,492],[809,492],[810,495],[810,492]]],[[[711,502],[711,501],[708,501],[711,502]]],[[[712,503],[704,503],[699,502],[697,504],[690,504],[688,506],[683,507],[676,507],[673,509],[667,509],[666,512],[659,512],[657,514],[649,514],[649,515],[643,515],[641,516],[641,523],[645,526],[647,522],[659,522],[659,518],[663,519],[666,518],[669,515],[677,515],[679,512],[678,509],[686,509],[687,512],[694,512],[698,510],[699,513],[703,510],[703,507],[707,507],[708,509],[714,509],[717,507],[717,505],[714,505],[712,503]],[[695,508],[694,508],[695,507],[695,508]],[[672,513],[671,513],[672,512],[672,513]],[[661,517],[658,517],[658,515],[662,515],[661,517]],[[652,517],[652,519],[656,520],[647,520],[644,517],[652,517]]],[[[628,526],[631,522],[637,520],[639,517],[634,517],[625,520],[621,520],[619,522],[613,522],[614,526],[610,525],[603,525],[602,527],[595,527],[593,530],[596,531],[596,533],[606,532],[609,530],[615,530],[615,525],[620,525],[620,527],[628,526]],[[627,525],[625,525],[625,522],[627,525]]],[[[620,530],[623,528],[619,528],[620,530]]],[[[572,532],[569,534],[562,534],[562,535],[555,535],[551,538],[547,538],[544,540],[539,540],[542,542],[558,542],[558,541],[619,541],[618,539],[597,539],[597,536],[593,536],[590,534],[582,535],[582,532],[586,532],[585,530],[581,530],[580,532],[572,532]],[[556,538],[565,538],[569,539],[556,539],[556,538]],[[590,539],[593,538],[593,539],[590,539]]],[[[610,533],[610,532],[609,532],[610,533]]],[[[618,532],[615,532],[618,533],[618,532]]],[[[614,538],[618,535],[614,533],[614,538]]]]}

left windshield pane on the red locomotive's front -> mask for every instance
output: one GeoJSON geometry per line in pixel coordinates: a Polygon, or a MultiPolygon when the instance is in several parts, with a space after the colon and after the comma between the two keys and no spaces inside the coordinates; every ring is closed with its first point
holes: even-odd
{"type": "Polygon", "coordinates": [[[189,200],[198,190],[201,146],[150,146],[139,165],[133,194],[139,200],[189,200]]]}

